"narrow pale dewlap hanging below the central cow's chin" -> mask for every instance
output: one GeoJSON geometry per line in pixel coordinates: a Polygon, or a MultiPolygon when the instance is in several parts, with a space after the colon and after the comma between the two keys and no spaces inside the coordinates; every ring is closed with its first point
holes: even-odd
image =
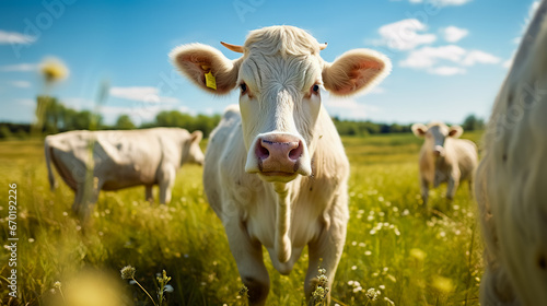
{"type": "Polygon", "coordinates": [[[291,226],[291,199],[288,184],[274,183],[274,189],[278,195],[276,207],[276,243],[275,249],[279,262],[287,262],[291,258],[291,239],[289,229],[291,226]]]}

